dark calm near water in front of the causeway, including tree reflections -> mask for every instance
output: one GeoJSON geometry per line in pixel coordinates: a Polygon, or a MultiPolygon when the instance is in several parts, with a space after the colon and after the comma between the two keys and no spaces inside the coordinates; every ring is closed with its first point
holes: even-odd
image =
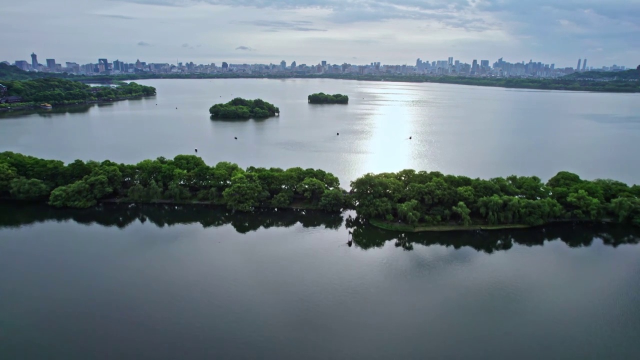
{"type": "Polygon", "coordinates": [[[0,205],[2,359],[633,359],[638,229],[0,205]],[[348,229],[354,232],[348,245],[348,229]]]}

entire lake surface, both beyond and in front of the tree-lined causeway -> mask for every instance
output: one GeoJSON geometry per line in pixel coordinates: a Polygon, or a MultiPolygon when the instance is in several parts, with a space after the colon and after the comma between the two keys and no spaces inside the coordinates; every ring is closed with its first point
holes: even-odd
{"type": "MultiPolygon", "coordinates": [[[[403,168],[640,182],[638,94],[140,83],[158,95],[0,113],[0,151],[135,163],[197,147],[209,164],[322,168],[345,188],[403,168]],[[350,101],[307,104],[314,92],[350,101]],[[237,96],[282,113],[209,119],[237,96]]],[[[401,234],[352,211],[0,202],[0,359],[632,359],[639,241],[606,224],[401,234]]]]}

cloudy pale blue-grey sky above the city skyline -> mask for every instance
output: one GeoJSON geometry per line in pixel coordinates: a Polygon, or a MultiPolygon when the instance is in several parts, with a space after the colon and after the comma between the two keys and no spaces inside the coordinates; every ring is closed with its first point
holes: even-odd
{"type": "Polygon", "coordinates": [[[12,63],[640,63],[640,0],[21,0],[0,24],[12,63]]]}

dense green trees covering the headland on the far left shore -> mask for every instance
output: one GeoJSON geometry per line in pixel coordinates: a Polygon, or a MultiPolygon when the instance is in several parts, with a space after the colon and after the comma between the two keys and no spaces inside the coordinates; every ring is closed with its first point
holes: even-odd
{"type": "Polygon", "coordinates": [[[24,102],[36,104],[42,102],[70,104],[156,94],[156,88],[136,83],[116,87],[92,87],[77,81],[58,78],[6,81],[3,85],[8,88],[8,96],[20,96],[24,102]]]}

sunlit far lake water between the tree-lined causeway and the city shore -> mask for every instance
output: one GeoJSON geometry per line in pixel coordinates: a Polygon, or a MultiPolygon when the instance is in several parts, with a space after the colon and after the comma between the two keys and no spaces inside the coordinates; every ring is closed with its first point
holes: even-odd
{"type": "Polygon", "coordinates": [[[1,149],[136,163],[192,154],[197,147],[207,163],[322,168],[343,187],[366,172],[403,168],[543,179],[571,170],[588,179],[640,182],[640,94],[333,79],[140,83],[155,86],[158,95],[73,113],[0,114],[1,149]],[[314,92],[340,92],[350,101],[307,104],[314,92]],[[209,119],[212,104],[238,96],[265,99],[282,114],[260,121],[209,119]]]}

